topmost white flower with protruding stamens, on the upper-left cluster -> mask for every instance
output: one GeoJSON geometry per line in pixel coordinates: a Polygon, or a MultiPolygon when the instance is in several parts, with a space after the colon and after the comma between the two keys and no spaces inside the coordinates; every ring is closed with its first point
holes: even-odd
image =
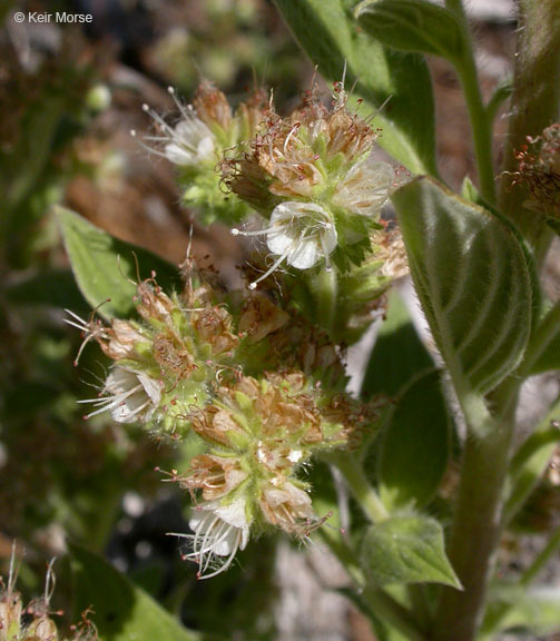
{"type": "Polygon", "coordinates": [[[150,151],[165,156],[175,165],[189,167],[203,160],[212,158],[215,149],[215,137],[208,126],[198,118],[190,105],[185,107],[175,96],[173,87],[168,89],[174,97],[180,111],[180,120],[171,127],[159,114],[144,105],[143,109],[159,126],[161,136],[147,136],[146,140],[158,142],[163,146],[163,151],[150,149],[150,151]]]}

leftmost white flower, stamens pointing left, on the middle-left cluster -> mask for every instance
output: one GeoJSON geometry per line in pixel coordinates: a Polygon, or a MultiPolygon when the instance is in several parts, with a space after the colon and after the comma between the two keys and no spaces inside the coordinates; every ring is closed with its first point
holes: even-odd
{"type": "Polygon", "coordinates": [[[86,398],[78,403],[92,403],[99,407],[86,418],[110,412],[117,423],[135,423],[140,420],[149,421],[160,401],[161,387],[157,381],[117,365],[107,376],[99,398],[86,398]]]}

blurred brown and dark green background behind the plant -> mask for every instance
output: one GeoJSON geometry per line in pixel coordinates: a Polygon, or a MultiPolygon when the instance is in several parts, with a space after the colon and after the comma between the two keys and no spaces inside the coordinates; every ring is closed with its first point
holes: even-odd
{"type": "MultiPolygon", "coordinates": [[[[512,7],[470,3],[483,89],[511,71],[512,7]]],[[[297,101],[314,69],[267,0],[77,0],[0,2],[0,573],[12,541],[23,555],[18,581],[42,591],[47,562],[66,540],[105,554],[205,639],[371,640],[369,625],[337,593],[344,572],[283,541],[261,540],[239,565],[210,582],[179,559],[169,531],[186,531],[186,497],[154,467],[180,469],[188,453],[115,425],[85,422],[76,401],[98,393],[107,362],[86,349],[62,308],[89,309],[68,268],[51,207],[63,204],[95,225],[173,263],[209,254],[223,269],[237,257],[230,235],[203,227],[179,204],[173,166],[130,136],[149,129],[144,102],[173,114],[173,86],[186,101],[200,79],[235,105],[255,85],[297,101]],[[18,23],[14,12],[90,13],[91,23],[18,23]],[[193,605],[195,604],[195,605],[193,605]],[[216,615],[219,613],[219,615],[216,615]]],[[[458,187],[473,172],[462,95],[453,70],[431,60],[438,152],[458,187]]],[[[321,70],[320,70],[321,71],[321,70]]],[[[328,95],[326,88],[325,95],[328,95]]],[[[504,135],[497,129],[497,154],[504,135]]],[[[558,254],[556,255],[558,258],[558,254]]],[[[550,262],[549,287],[560,279],[550,262]]],[[[525,514],[527,531],[550,525],[558,492],[525,514]]],[[[504,571],[531,550],[504,550],[504,571]]],[[[69,617],[71,585],[57,562],[55,607],[69,617]]]]}

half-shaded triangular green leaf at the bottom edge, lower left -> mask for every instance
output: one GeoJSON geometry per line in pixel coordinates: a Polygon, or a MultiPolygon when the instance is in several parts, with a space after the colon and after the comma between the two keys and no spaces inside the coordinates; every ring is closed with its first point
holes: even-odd
{"type": "Polygon", "coordinates": [[[102,641],[198,641],[151,596],[101,558],[70,545],[76,582],[75,619],[89,607],[102,641]]]}

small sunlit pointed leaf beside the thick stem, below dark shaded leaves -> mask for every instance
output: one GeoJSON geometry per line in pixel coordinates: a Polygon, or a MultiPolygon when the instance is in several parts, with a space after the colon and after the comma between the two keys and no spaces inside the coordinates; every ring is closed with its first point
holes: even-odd
{"type": "Polygon", "coordinates": [[[443,583],[461,589],[444,550],[443,530],[428,516],[393,516],[372,525],[362,544],[372,583],[443,583]]]}

